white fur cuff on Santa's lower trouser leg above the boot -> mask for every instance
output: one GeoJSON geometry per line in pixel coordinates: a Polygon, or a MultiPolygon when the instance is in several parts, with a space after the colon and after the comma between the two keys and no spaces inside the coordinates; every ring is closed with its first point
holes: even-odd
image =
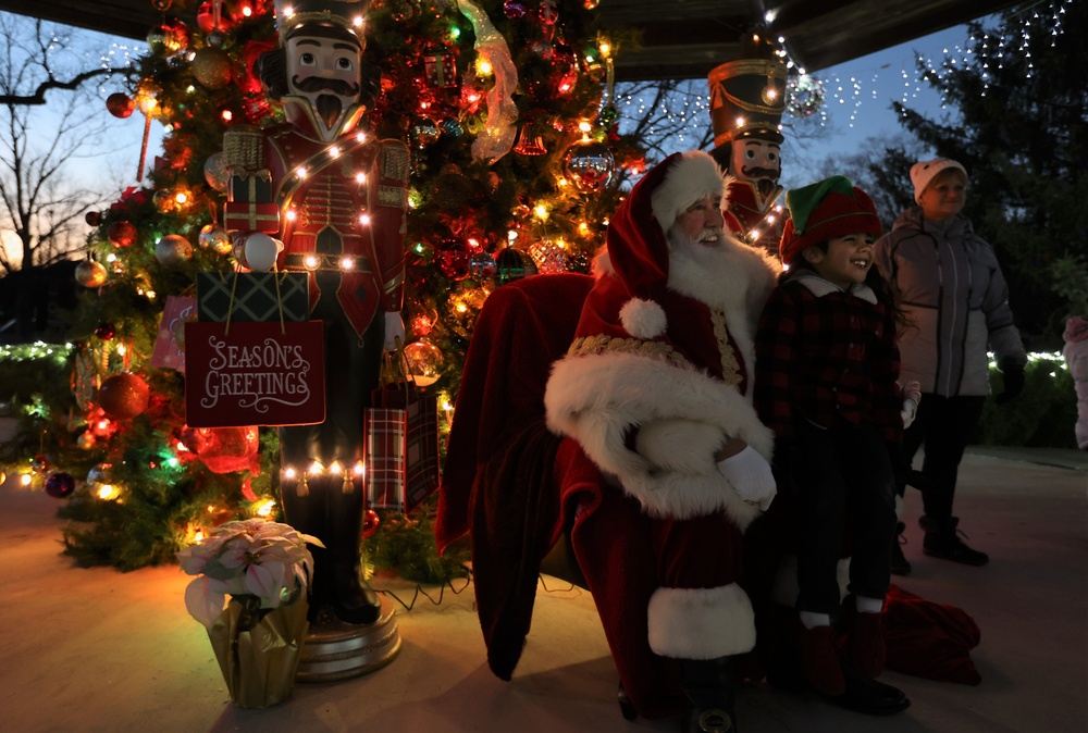
{"type": "Polygon", "coordinates": [[[678,659],[717,659],[755,647],[752,601],[737,584],[657,588],[646,610],[650,648],[678,659]]]}

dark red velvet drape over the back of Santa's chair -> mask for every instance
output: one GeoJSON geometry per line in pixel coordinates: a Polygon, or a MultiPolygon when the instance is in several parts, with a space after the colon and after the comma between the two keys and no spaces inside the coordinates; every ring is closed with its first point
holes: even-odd
{"type": "MultiPolygon", "coordinates": [[[[541,563],[556,545],[560,552],[568,546],[554,469],[561,438],[545,426],[544,388],[592,286],[591,276],[568,273],[499,287],[466,355],[435,536],[440,551],[471,536],[487,661],[503,680],[529,633],[541,563]]],[[[585,586],[573,562],[551,571],[585,586]]]]}

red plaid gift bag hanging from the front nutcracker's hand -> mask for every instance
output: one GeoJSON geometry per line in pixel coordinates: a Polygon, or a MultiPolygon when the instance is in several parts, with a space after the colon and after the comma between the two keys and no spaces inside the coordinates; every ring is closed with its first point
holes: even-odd
{"type": "Polygon", "coordinates": [[[438,487],[438,401],[411,393],[405,407],[367,408],[367,501],[409,512],[438,487]]]}

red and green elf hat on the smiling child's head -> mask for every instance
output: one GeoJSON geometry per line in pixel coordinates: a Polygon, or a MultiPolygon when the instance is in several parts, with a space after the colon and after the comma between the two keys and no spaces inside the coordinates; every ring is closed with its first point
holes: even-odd
{"type": "Polygon", "coordinates": [[[863,232],[879,237],[883,229],[868,194],[850,178],[831,176],[786,194],[790,218],[782,229],[779,253],[790,264],[805,247],[863,232]]]}

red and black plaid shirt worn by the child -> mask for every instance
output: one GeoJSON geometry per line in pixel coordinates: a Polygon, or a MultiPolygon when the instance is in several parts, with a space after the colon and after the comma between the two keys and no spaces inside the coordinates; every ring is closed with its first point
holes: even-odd
{"type": "Polygon", "coordinates": [[[886,440],[903,430],[894,314],[826,281],[814,295],[799,278],[767,301],[756,334],[754,399],[776,435],[793,434],[799,418],[831,427],[871,423],[886,440]]]}

